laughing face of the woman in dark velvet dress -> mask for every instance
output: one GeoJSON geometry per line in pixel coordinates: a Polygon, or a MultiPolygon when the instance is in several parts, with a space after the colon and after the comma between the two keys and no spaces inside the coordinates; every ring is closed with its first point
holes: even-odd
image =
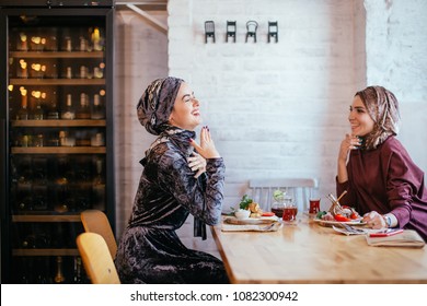
{"type": "Polygon", "coordinates": [[[172,126],[194,131],[201,122],[199,106],[200,103],[194,96],[188,84],[182,83],[169,117],[169,122],[172,126]]]}

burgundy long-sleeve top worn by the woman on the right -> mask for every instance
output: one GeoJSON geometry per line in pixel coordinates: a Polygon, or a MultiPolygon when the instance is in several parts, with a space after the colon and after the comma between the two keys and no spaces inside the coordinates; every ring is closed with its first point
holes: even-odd
{"type": "Polygon", "coordinates": [[[360,214],[392,213],[400,228],[415,229],[427,242],[427,189],[424,172],[402,143],[388,138],[374,150],[353,150],[347,163],[348,180],[336,181],[339,201],[360,214]]]}

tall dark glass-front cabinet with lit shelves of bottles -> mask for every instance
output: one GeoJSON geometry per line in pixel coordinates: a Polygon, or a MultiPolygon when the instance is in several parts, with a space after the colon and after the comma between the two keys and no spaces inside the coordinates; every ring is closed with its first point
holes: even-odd
{"type": "Polygon", "coordinates": [[[1,283],[86,283],[80,213],[115,228],[113,28],[113,1],[0,0],[1,283]]]}

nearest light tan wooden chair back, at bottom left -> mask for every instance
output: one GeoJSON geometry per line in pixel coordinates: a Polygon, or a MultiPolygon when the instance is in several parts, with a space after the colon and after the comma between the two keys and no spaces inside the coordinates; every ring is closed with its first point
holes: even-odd
{"type": "Polygon", "coordinates": [[[77,247],[92,284],[120,283],[108,247],[101,235],[82,233],[77,237],[77,247]]]}

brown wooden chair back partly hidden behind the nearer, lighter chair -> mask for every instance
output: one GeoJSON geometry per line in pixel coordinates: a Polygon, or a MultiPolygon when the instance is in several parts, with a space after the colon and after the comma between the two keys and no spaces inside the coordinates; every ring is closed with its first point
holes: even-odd
{"type": "Polygon", "coordinates": [[[100,210],[85,210],[81,212],[80,219],[83,223],[84,232],[96,233],[104,238],[114,259],[117,252],[117,242],[105,213],[100,210]]]}

